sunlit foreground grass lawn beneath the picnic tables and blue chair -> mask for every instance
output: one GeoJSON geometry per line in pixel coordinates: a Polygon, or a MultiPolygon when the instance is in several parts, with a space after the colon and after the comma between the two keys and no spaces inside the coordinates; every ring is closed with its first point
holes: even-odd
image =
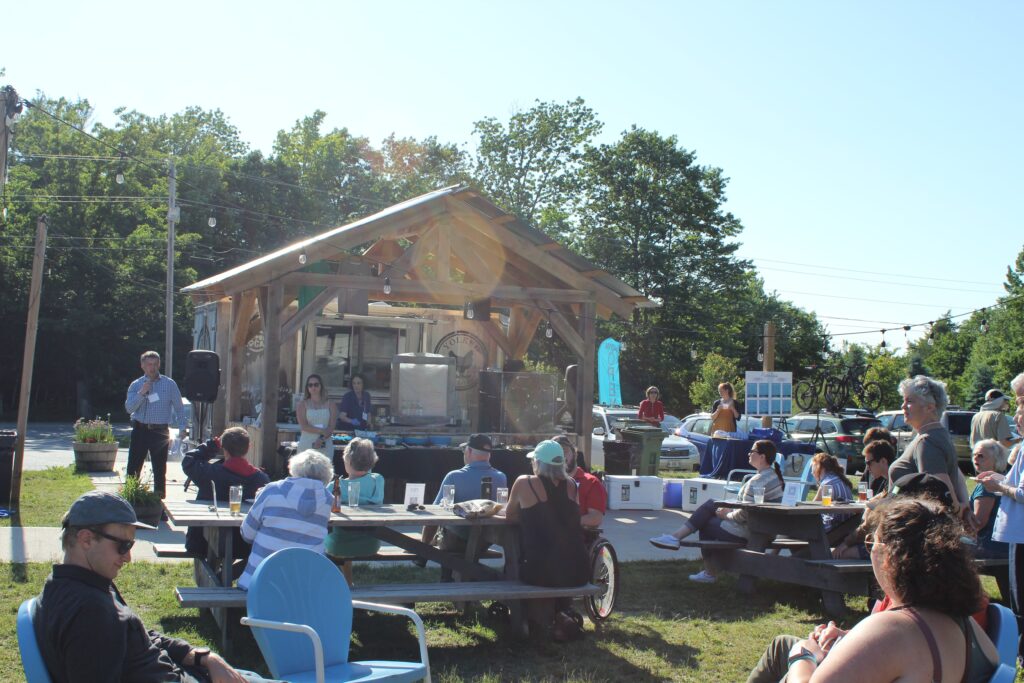
{"type": "MultiPolygon", "coordinates": [[[[44,564],[5,564],[0,580],[0,681],[22,679],[14,618],[17,605],[38,593],[49,572],[44,564]]],[[[422,581],[413,567],[356,567],[356,583],[422,581]],[[371,577],[370,573],[375,575],[371,577]]],[[[623,564],[621,608],[599,630],[588,622],[587,636],[570,645],[504,636],[501,621],[486,613],[459,614],[450,605],[420,605],[434,680],[456,681],[742,681],[772,636],[805,634],[827,621],[814,591],[760,582],[754,596],[738,595],[735,580],[717,584],[685,581],[696,562],[629,562],[623,564]]],[[[997,595],[994,582],[986,588],[997,595]]],[[[186,563],[132,563],[118,586],[146,626],[194,644],[219,648],[213,620],[198,610],[180,609],[174,586],[191,583],[186,563]]],[[[850,626],[864,614],[863,598],[849,598],[850,626]]],[[[233,632],[229,660],[263,671],[248,630],[233,632]]],[[[409,622],[361,614],[355,622],[353,658],[415,658],[416,638],[409,622]]],[[[265,673],[265,671],[264,671],[265,673]]]]}

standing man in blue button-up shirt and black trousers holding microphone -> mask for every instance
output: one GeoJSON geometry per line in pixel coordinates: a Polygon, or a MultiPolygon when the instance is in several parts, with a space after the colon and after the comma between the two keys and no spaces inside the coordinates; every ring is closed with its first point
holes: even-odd
{"type": "Polygon", "coordinates": [[[128,474],[137,477],[148,454],[153,465],[153,489],[164,498],[171,418],[173,416],[178,425],[178,438],[184,438],[188,434],[185,411],[178,385],[160,374],[160,354],[146,351],[139,361],[143,375],[131,383],[125,399],[125,410],[131,415],[128,474]]]}

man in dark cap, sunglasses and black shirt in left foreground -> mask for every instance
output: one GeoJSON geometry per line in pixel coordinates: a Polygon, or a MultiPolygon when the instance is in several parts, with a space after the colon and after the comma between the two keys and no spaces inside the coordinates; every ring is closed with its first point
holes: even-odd
{"type": "Polygon", "coordinates": [[[123,498],[92,490],[61,521],[63,563],[54,564],[32,621],[54,683],[88,681],[263,681],[219,654],[146,630],[114,585],[131,561],[142,524],[123,498]]]}

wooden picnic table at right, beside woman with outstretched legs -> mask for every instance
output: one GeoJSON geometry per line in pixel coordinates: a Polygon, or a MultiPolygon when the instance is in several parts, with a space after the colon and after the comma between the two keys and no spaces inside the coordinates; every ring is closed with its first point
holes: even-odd
{"type": "Polygon", "coordinates": [[[718,501],[716,506],[746,511],[746,527],[751,531],[746,545],[723,547],[708,556],[713,570],[740,574],[737,582],[740,591],[752,593],[757,577],[816,588],[821,591],[825,610],[837,617],[846,612],[844,593],[870,594],[870,572],[841,571],[831,561],[830,542],[821,518],[822,513],[849,514],[851,518],[843,527],[851,528],[864,513],[862,503],[824,506],[808,502],[786,506],[718,501]],[[781,546],[776,543],[778,537],[786,540],[781,546]],[[779,547],[787,546],[790,555],[777,552],[779,547]]]}

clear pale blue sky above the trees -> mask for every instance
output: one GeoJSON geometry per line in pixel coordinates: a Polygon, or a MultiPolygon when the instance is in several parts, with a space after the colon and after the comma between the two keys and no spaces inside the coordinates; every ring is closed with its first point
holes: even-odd
{"type": "Polygon", "coordinates": [[[24,95],[220,109],[264,152],[316,109],[471,148],[473,121],[582,96],[605,140],[638,124],[725,169],[740,254],[835,333],[990,304],[1024,247],[1021,3],[14,2],[3,25],[24,95]]]}

